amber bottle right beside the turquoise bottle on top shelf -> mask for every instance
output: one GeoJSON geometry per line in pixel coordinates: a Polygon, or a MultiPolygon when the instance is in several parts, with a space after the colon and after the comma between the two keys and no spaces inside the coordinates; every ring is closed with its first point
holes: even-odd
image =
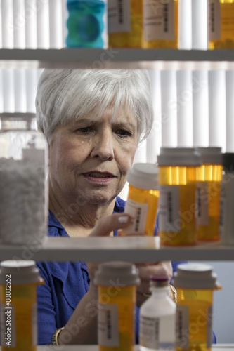
{"type": "Polygon", "coordinates": [[[142,48],[143,0],[109,0],[108,34],[113,48],[142,48]]]}

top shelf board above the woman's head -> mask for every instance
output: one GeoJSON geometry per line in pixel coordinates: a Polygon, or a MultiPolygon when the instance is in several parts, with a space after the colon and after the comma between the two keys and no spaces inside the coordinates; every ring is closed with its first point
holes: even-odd
{"type": "Polygon", "coordinates": [[[0,49],[0,68],[234,69],[234,50],[0,49]]]}

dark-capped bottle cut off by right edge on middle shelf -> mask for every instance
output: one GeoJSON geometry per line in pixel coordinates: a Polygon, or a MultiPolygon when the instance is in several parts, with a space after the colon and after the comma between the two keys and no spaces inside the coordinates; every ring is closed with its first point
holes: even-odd
{"type": "Polygon", "coordinates": [[[223,154],[221,242],[234,245],[234,153],[223,154]]]}

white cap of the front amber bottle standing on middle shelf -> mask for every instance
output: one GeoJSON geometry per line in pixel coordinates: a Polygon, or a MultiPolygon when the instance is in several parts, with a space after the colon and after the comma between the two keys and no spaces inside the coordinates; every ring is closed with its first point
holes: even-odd
{"type": "Polygon", "coordinates": [[[196,147],[160,147],[157,157],[159,166],[200,166],[200,154],[196,147]]]}

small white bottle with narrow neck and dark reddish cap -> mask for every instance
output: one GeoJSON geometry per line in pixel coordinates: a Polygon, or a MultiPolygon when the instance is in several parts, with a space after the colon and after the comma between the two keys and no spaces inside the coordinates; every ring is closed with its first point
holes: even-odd
{"type": "Polygon", "coordinates": [[[167,276],[150,277],[152,295],[141,305],[141,351],[174,350],[176,341],[176,303],[169,298],[167,276]]]}

